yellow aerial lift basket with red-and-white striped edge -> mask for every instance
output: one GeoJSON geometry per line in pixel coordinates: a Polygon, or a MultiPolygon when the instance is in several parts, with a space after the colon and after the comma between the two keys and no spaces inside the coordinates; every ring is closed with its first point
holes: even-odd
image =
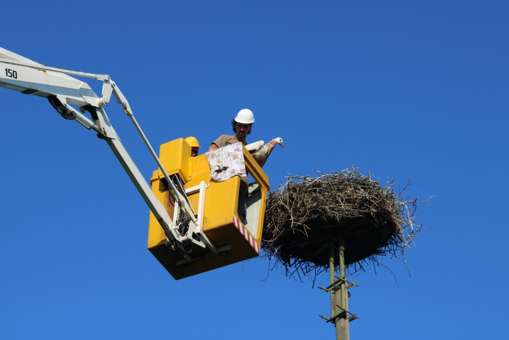
{"type": "MultiPolygon", "coordinates": [[[[175,278],[181,279],[260,254],[265,202],[270,188],[269,178],[242,147],[247,172],[254,179],[248,187],[247,215],[240,221],[237,213],[241,178],[234,176],[223,182],[210,177],[205,154],[191,157],[191,147],[183,138],[162,144],[159,159],[169,175],[178,174],[195,213],[202,219],[203,232],[220,250],[217,253],[197,245],[175,250],[166,246],[166,235],[150,213],[148,248],[161,265],[175,278]],[[200,197],[202,199],[200,199],[200,197]],[[186,252],[189,252],[186,256],[186,252]]],[[[160,170],[150,180],[152,192],[166,208],[175,214],[175,202],[160,170]]]]}

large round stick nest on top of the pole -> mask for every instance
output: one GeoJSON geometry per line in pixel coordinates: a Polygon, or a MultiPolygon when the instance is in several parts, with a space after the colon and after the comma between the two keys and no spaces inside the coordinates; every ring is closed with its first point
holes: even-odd
{"type": "Polygon", "coordinates": [[[318,177],[288,176],[267,199],[262,248],[287,276],[313,275],[329,266],[329,245],[338,266],[338,240],[345,245],[349,273],[379,264],[380,256],[402,255],[422,225],[417,200],[393,191],[356,168],[318,177]]]}

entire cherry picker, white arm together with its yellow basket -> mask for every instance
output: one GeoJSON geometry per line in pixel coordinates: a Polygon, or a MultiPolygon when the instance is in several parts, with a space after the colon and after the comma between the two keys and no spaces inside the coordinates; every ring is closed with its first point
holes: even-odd
{"type": "Polygon", "coordinates": [[[161,145],[158,156],[134,118],[126,97],[107,74],[44,66],[1,47],[0,70],[0,87],[47,98],[63,118],[93,130],[107,142],[150,208],[149,250],[174,278],[219,268],[260,253],[269,184],[263,170],[244,147],[246,169],[256,180],[249,189],[249,222],[240,221],[236,213],[238,176],[223,183],[211,181],[204,176],[208,169],[205,156],[191,158],[190,146],[182,138],[161,145]],[[101,81],[101,96],[72,76],[101,81]],[[121,104],[157,164],[158,170],[151,178],[152,188],[106,115],[104,106],[111,96],[121,104]]]}

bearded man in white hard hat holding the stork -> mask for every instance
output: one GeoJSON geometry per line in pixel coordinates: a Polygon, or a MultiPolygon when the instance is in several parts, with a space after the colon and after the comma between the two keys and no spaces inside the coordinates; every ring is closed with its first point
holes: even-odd
{"type": "MultiPolygon", "coordinates": [[[[252,124],[254,123],[254,115],[249,109],[242,109],[237,113],[237,116],[232,120],[233,132],[234,136],[230,135],[221,135],[218,139],[216,139],[209,147],[209,151],[217,150],[220,147],[235,144],[241,142],[244,145],[247,145],[246,137],[251,133],[252,124]]],[[[270,152],[276,145],[275,141],[271,141],[267,143],[269,146],[269,151],[267,154],[267,158],[269,158],[270,152]]],[[[259,163],[260,166],[263,166],[267,161],[267,158],[259,163]]],[[[240,182],[240,192],[239,192],[239,205],[237,207],[238,214],[241,220],[244,220],[247,213],[246,199],[247,199],[247,176],[241,177],[240,182]]]]}

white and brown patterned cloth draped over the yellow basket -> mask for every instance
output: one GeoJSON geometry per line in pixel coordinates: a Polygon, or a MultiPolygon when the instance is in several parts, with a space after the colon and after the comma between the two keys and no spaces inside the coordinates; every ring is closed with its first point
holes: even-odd
{"type": "Polygon", "coordinates": [[[220,147],[205,153],[210,166],[210,177],[223,182],[233,176],[247,177],[242,143],[220,147]]]}

